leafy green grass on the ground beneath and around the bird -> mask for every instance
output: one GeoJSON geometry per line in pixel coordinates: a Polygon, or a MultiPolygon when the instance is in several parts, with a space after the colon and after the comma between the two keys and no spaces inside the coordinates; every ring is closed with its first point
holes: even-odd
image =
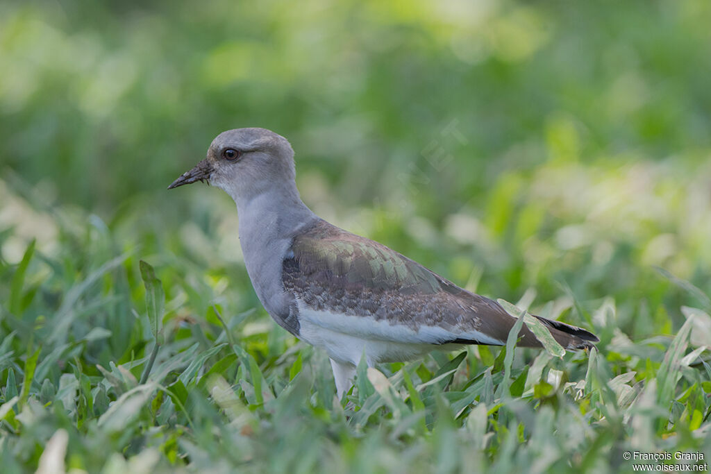
{"type": "MultiPolygon", "coordinates": [[[[235,236],[37,212],[23,221],[51,222],[54,245],[31,242],[0,267],[4,473],[52,457],[107,473],[597,473],[630,470],[624,451],[710,454],[711,303],[670,274],[638,268],[631,289],[656,283],[633,306],[634,290],[619,302],[575,297],[592,264],[555,301],[525,294],[519,306],[592,328],[601,342],[589,354],[513,350],[510,338],[507,348],[363,365],[339,403],[326,355],[252,304],[241,264],[214,264],[218,241],[235,236]],[[687,305],[678,330],[670,301],[687,305]]],[[[9,228],[0,245],[14,237],[9,228]]],[[[604,273],[630,263],[617,258],[604,273]]]]}

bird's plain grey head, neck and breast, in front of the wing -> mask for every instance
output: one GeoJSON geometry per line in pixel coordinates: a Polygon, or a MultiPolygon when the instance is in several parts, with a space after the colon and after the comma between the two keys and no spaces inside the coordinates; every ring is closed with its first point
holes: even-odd
{"type": "Polygon", "coordinates": [[[317,217],[299,198],[295,176],[287,139],[267,129],[234,129],[215,137],[205,159],[168,188],[207,181],[235,200],[252,286],[277,323],[298,333],[294,296],[282,285],[282,262],[294,232],[317,217]]]}

